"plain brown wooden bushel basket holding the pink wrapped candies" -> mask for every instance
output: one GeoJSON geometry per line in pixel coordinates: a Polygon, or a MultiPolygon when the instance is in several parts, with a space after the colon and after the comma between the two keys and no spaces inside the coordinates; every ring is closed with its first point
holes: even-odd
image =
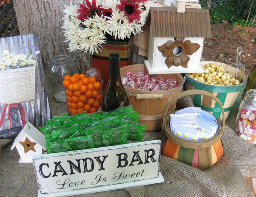
{"type": "MultiPolygon", "coordinates": [[[[121,76],[127,71],[147,71],[144,64],[135,64],[124,66],[120,69],[121,76]]],[[[124,87],[127,92],[129,104],[133,105],[134,111],[139,111],[139,123],[146,124],[145,131],[157,131],[162,127],[163,112],[166,109],[167,102],[175,95],[182,91],[184,79],[180,74],[163,74],[156,75],[162,78],[174,79],[178,86],[163,91],[138,90],[131,87],[124,87]]],[[[173,102],[168,111],[175,110],[176,102],[173,102]]]]}

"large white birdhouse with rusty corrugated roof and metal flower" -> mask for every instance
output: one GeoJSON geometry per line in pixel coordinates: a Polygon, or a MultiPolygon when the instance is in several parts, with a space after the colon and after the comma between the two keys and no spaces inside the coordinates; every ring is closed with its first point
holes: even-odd
{"type": "MultiPolygon", "coordinates": [[[[149,74],[204,72],[200,65],[204,37],[211,37],[208,9],[177,7],[150,8],[149,74]]],[[[182,7],[183,6],[183,7],[182,7]]]]}

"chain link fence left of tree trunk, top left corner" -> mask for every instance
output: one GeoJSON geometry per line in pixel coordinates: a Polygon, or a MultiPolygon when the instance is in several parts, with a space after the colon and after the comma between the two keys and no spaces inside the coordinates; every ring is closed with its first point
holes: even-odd
{"type": "Polygon", "coordinates": [[[19,34],[13,1],[0,0],[0,38],[19,34]]]}

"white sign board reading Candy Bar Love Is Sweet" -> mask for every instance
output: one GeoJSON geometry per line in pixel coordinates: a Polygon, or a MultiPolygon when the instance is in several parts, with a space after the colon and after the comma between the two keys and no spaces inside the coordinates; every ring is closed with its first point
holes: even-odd
{"type": "Polygon", "coordinates": [[[161,141],[35,155],[41,194],[103,187],[159,176],[161,141]]]}

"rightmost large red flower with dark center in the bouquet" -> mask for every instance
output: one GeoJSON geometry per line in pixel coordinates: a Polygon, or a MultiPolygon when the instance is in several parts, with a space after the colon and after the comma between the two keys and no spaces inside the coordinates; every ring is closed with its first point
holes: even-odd
{"type": "Polygon", "coordinates": [[[121,0],[121,5],[116,5],[116,8],[120,11],[124,10],[124,13],[129,19],[129,23],[134,20],[140,21],[141,10],[138,9],[139,7],[139,4],[136,4],[134,0],[130,0],[129,3],[127,3],[126,0],[121,0]]]}

